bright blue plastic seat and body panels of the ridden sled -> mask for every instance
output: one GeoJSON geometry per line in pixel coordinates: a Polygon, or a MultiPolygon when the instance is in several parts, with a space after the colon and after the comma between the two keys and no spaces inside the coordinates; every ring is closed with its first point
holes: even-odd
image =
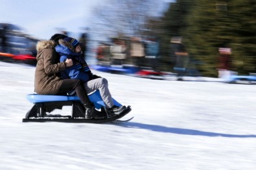
{"type": "MultiPolygon", "coordinates": [[[[100,96],[99,90],[88,95],[89,100],[93,102],[96,109],[105,107],[105,103],[100,96]]],[[[58,102],[58,101],[80,101],[78,96],[59,96],[59,95],[41,95],[41,94],[28,94],[27,100],[31,103],[48,103],[48,102],[58,102]]],[[[121,106],[115,99],[113,99],[114,105],[121,106]]]]}

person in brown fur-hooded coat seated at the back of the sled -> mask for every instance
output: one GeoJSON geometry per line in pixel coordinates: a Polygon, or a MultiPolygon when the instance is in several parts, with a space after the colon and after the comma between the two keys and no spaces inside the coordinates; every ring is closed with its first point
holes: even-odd
{"type": "Polygon", "coordinates": [[[58,39],[67,37],[63,34],[54,34],[50,40],[38,41],[36,50],[36,72],[34,78],[35,92],[38,94],[67,94],[69,90],[75,90],[78,98],[86,109],[85,118],[105,118],[93,108],[89,101],[84,85],[80,80],[66,79],[60,77],[60,72],[73,65],[72,59],[59,62],[59,55],[54,50],[58,39]]]}

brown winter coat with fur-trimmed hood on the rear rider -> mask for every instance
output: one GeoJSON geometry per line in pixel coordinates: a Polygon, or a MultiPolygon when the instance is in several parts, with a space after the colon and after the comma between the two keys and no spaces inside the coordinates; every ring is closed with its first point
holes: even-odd
{"type": "Polygon", "coordinates": [[[65,62],[59,63],[54,49],[54,41],[39,41],[36,45],[35,92],[38,94],[56,94],[62,85],[59,72],[65,70],[65,62]]]}

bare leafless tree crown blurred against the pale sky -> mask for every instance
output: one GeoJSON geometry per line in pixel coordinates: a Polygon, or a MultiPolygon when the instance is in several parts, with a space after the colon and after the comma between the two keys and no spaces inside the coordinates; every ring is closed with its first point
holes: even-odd
{"type": "Polygon", "coordinates": [[[105,0],[95,8],[94,31],[108,37],[141,36],[158,4],[154,0],[105,0]]]}

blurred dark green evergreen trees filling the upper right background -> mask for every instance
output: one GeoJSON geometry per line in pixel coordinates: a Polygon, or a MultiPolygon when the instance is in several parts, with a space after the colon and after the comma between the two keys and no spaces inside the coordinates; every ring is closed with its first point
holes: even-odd
{"type": "Polygon", "coordinates": [[[177,0],[162,17],[161,51],[168,63],[170,37],[181,36],[189,54],[202,61],[205,76],[216,76],[219,47],[232,48],[233,70],[256,72],[255,0],[177,0]]]}

